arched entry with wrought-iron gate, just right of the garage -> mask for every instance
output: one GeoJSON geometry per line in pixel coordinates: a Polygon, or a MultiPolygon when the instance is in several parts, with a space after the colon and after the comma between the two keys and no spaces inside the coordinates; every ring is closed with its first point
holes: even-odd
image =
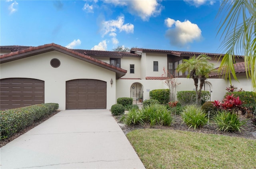
{"type": "Polygon", "coordinates": [[[140,83],[134,83],[130,88],[130,95],[133,99],[133,104],[142,104],[143,102],[143,86],[140,83]]]}

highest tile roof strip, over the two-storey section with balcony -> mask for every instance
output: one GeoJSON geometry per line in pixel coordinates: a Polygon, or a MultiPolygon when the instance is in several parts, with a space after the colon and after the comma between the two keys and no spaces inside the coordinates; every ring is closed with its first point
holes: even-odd
{"type": "MultiPolygon", "coordinates": [[[[132,48],[132,51],[140,51],[140,52],[155,52],[155,53],[164,53],[164,54],[172,54],[172,55],[178,55],[178,56],[182,56],[182,55],[210,55],[210,56],[223,56],[224,54],[214,54],[214,53],[204,53],[204,52],[186,52],[186,51],[174,51],[174,50],[158,50],[158,49],[143,49],[143,48],[132,48]]],[[[244,57],[244,56],[240,56],[240,55],[236,55],[235,57],[244,57]]]]}

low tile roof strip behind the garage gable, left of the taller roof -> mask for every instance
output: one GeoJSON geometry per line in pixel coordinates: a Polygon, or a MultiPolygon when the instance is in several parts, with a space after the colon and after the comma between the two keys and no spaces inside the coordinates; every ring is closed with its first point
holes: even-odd
{"type": "Polygon", "coordinates": [[[105,51],[105,50],[84,50],[84,49],[72,49],[81,54],[90,56],[140,56],[138,54],[132,54],[130,52],[116,52],[116,51],[105,51]]]}

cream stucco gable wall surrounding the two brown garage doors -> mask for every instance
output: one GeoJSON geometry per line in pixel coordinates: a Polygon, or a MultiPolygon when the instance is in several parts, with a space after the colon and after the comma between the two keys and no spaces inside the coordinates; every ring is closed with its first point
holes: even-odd
{"type": "Polygon", "coordinates": [[[74,79],[95,79],[107,82],[107,109],[116,102],[116,73],[72,56],[52,51],[1,64],[0,77],[33,78],[44,81],[45,103],[59,103],[59,109],[66,108],[66,81],[74,79]],[[60,66],[53,68],[50,61],[60,60],[60,66]],[[114,81],[111,87],[110,80],[114,81]]]}

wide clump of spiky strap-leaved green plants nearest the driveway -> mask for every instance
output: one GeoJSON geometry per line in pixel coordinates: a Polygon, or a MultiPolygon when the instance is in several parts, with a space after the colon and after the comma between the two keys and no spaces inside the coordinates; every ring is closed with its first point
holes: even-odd
{"type": "Polygon", "coordinates": [[[151,126],[156,124],[170,126],[172,119],[165,105],[152,104],[143,107],[141,110],[130,110],[126,115],[125,123],[127,125],[149,123],[151,126]]]}

